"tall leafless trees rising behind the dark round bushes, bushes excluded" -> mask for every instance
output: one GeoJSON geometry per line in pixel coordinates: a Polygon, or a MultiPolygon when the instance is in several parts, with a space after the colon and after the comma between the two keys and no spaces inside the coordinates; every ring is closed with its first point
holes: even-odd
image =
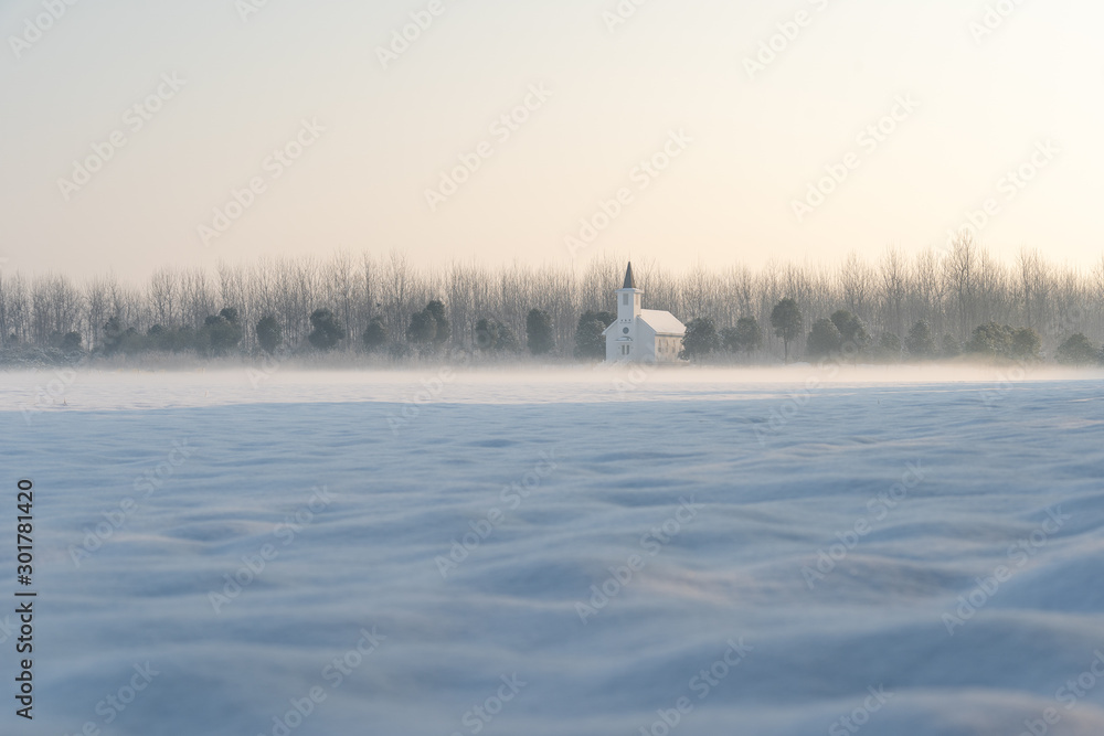
{"type": "MultiPolygon", "coordinates": [[[[107,273],[81,289],[64,275],[28,278],[4,271],[0,345],[46,345],[59,334],[77,331],[98,349],[112,317],[141,331],[153,324],[199,328],[222,307],[238,310],[245,351],[255,346],[256,321],[267,316],[279,322],[285,344],[296,349],[309,333],[310,313],[320,307],[331,309],[353,338],[373,317],[382,317],[401,341],[411,316],[440,299],[453,326],[453,346],[474,345],[481,318],[503,322],[520,335],[526,314],[535,308],[552,316],[558,350],[570,355],[578,316],[612,309],[624,269],[625,259],[608,253],[595,254],[578,269],[518,263],[489,268],[474,260],[416,268],[394,250],[382,257],[338,252],[323,262],[265,257],[220,263],[215,278],[201,268],[161,268],[129,284],[107,273]]],[[[1023,249],[1010,266],[981,248],[969,232],[960,233],[945,255],[928,248],[909,262],[900,249],[888,248],[875,268],[852,252],[840,264],[771,260],[758,270],[735,264],[672,271],[637,260],[634,271],[648,308],[670,310],[683,321],[710,317],[718,327],[731,327],[740,317],[766,324],[778,300],[792,296],[802,306],[806,329],[848,309],[872,327],[899,334],[924,319],[936,334],[966,338],[977,324],[994,320],[1034,327],[1043,334],[1044,350],[1071,331],[1104,339],[1104,257],[1079,269],[1054,266],[1039,250],[1023,249]]],[[[767,350],[782,355],[773,334],[767,350]]]]}

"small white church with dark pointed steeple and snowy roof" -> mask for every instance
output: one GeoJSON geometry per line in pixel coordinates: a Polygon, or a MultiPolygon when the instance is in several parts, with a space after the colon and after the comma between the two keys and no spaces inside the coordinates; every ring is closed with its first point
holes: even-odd
{"type": "Polygon", "coordinates": [[[625,285],[617,289],[617,320],[606,328],[606,361],[635,363],[679,363],[687,328],[670,312],[641,309],[641,289],[636,288],[633,264],[625,271],[625,285]]]}

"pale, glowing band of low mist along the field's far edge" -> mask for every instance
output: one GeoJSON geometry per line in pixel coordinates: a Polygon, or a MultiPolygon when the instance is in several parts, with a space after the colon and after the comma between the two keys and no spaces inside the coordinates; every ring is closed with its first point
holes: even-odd
{"type": "Polygon", "coordinates": [[[1040,381],[1104,378],[1104,370],[1053,365],[824,365],[761,367],[654,365],[538,366],[509,362],[470,367],[421,364],[406,370],[304,369],[294,361],[182,362],[168,369],[41,369],[0,373],[4,405],[33,415],[72,409],[173,408],[256,403],[406,402],[592,403],[719,397],[769,397],[778,392],[818,393],[822,385],[974,384],[977,392],[1007,393],[1040,381]]]}

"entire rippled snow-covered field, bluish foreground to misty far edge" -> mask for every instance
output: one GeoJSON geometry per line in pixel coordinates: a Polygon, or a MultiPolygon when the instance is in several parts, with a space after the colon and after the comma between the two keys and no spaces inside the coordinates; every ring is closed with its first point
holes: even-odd
{"type": "Polygon", "coordinates": [[[1102,388],[0,374],[0,733],[1100,736],[1102,388]]]}

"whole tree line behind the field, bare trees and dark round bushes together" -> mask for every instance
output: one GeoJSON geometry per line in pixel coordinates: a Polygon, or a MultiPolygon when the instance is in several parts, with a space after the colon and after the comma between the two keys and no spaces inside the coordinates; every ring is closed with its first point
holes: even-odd
{"type": "MultiPolygon", "coordinates": [[[[624,267],[611,256],[580,269],[417,267],[400,252],[339,252],[221,264],[214,273],[161,268],[144,282],[6,271],[0,349],[9,356],[477,351],[601,359],[624,267]]],[[[827,265],[676,273],[634,263],[634,271],[646,308],[688,324],[690,359],[815,360],[843,346],[877,360],[1070,358],[1096,354],[1104,340],[1104,256],[1079,267],[1026,248],[1004,263],[968,232],[945,250],[888,248],[873,263],[852,252],[827,265]]]]}

